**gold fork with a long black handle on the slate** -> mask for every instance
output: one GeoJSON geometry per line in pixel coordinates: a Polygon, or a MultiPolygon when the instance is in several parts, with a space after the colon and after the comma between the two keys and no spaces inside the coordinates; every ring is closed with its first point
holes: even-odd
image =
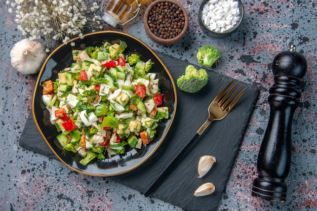
{"type": "Polygon", "coordinates": [[[161,175],[152,183],[152,185],[144,193],[144,196],[149,196],[157,186],[163,181],[163,179],[171,172],[172,168],[175,166],[177,161],[183,156],[187,149],[192,145],[192,143],[206,130],[207,126],[213,120],[223,119],[229,111],[233,108],[235,103],[241,98],[243,93],[247,88],[240,91],[243,86],[237,87],[238,82],[229,90],[233,85],[235,79],[233,79],[210,103],[208,107],[209,117],[206,122],[201,126],[197,133],[191,138],[191,140],[186,144],[186,146],[176,155],[176,157],[170,162],[170,164],[165,168],[161,175]],[[237,88],[236,88],[237,87],[237,88]],[[228,91],[229,90],[229,91],[228,91]],[[238,92],[240,93],[238,94],[238,92]],[[234,98],[234,99],[233,99],[234,98]]]}

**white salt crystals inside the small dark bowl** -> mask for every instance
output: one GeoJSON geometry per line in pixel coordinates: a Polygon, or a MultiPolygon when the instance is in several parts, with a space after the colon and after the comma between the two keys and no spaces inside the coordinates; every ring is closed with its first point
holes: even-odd
{"type": "Polygon", "coordinates": [[[202,10],[202,20],[215,32],[232,29],[240,19],[239,3],[235,0],[209,0],[202,10]]]}

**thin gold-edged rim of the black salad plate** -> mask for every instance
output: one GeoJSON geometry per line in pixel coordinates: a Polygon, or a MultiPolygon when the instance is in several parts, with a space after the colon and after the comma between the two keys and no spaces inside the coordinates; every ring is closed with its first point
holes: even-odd
{"type": "Polygon", "coordinates": [[[33,90],[33,95],[32,95],[32,116],[33,116],[33,119],[34,119],[34,123],[35,123],[35,126],[36,126],[36,129],[37,131],[39,132],[39,134],[41,134],[42,138],[44,139],[44,141],[46,142],[46,144],[48,145],[48,147],[50,148],[50,150],[54,153],[54,155],[64,164],[66,165],[67,167],[69,167],[71,170],[75,171],[75,172],[78,172],[78,173],[81,173],[81,174],[84,174],[84,175],[90,175],[90,176],[98,176],[98,177],[110,177],[110,176],[117,176],[117,175],[123,175],[125,173],[128,173],[128,172],[131,172],[132,170],[135,170],[135,168],[139,167],[140,165],[142,165],[145,161],[147,161],[153,154],[154,152],[160,147],[160,145],[164,142],[167,134],[169,133],[170,129],[171,129],[171,126],[172,126],[172,123],[174,121],[174,118],[175,118],[175,115],[176,115],[176,110],[177,110],[177,89],[176,89],[176,85],[175,85],[175,81],[174,81],[174,78],[171,74],[171,72],[169,71],[169,69],[166,67],[165,63],[161,60],[161,58],[148,46],[146,45],[142,40],[140,40],[139,38],[131,35],[131,34],[128,34],[128,33],[125,33],[125,32],[120,32],[120,31],[111,31],[111,30],[103,30],[103,31],[95,31],[95,32],[90,32],[90,33],[86,33],[84,34],[84,37],[81,38],[79,36],[77,37],[74,37],[70,40],[67,41],[67,44],[61,44],[59,45],[58,47],[56,47],[49,55],[48,57],[46,58],[46,60],[44,61],[41,69],[39,70],[38,74],[37,74],[37,79],[36,79],[36,82],[35,82],[35,87],[34,87],[34,90],[33,90]],[[39,127],[38,125],[38,122],[37,122],[37,119],[36,119],[36,115],[35,115],[35,110],[34,110],[34,104],[35,104],[35,96],[36,96],[36,91],[37,91],[37,87],[38,87],[38,84],[41,83],[40,79],[42,77],[42,74],[44,72],[44,69],[46,67],[46,64],[48,63],[48,61],[51,59],[51,57],[59,50],[61,49],[62,47],[66,46],[66,45],[70,45],[71,42],[75,41],[75,40],[78,40],[78,39],[85,39],[85,37],[88,37],[88,36],[92,36],[92,35],[95,35],[95,34],[105,34],[105,33],[114,33],[114,34],[121,34],[121,35],[124,35],[124,36],[128,36],[128,37],[131,37],[133,38],[134,40],[138,41],[140,44],[142,44],[144,47],[146,47],[155,57],[157,60],[160,61],[160,63],[162,64],[162,66],[164,67],[166,73],[169,75],[170,79],[171,79],[171,82],[172,82],[172,86],[173,86],[173,93],[174,93],[174,108],[173,108],[173,115],[171,116],[171,120],[170,120],[170,124],[167,126],[167,129],[166,129],[166,133],[163,134],[162,136],[162,140],[161,142],[159,142],[155,148],[146,156],[145,159],[141,160],[141,162],[139,162],[138,164],[132,166],[131,168],[128,168],[127,170],[125,171],[122,171],[122,172],[119,172],[119,173],[113,173],[113,174],[94,174],[94,173],[89,173],[89,172],[85,172],[85,171],[82,171],[78,168],[75,168],[71,165],[69,165],[68,163],[66,163],[60,156],[59,154],[53,149],[53,147],[51,146],[51,144],[49,143],[49,141],[46,139],[46,137],[44,136],[41,128],[39,127]]]}

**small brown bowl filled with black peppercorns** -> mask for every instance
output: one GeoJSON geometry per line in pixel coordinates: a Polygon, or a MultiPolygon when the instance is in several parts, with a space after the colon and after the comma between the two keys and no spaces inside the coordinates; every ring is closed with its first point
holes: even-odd
{"type": "Polygon", "coordinates": [[[176,1],[156,0],[145,10],[144,29],[155,43],[170,46],[180,41],[188,28],[185,8],[176,1]]]}

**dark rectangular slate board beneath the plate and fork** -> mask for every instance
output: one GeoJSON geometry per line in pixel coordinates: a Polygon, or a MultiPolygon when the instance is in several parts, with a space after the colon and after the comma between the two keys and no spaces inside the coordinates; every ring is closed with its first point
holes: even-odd
{"type": "MultiPolygon", "coordinates": [[[[189,63],[159,52],[156,53],[165,63],[176,82],[176,79],[184,74],[184,69],[189,63]]],[[[170,160],[206,121],[210,102],[232,80],[232,78],[212,70],[207,69],[207,71],[209,83],[201,91],[189,94],[177,90],[176,117],[160,148],[136,170],[115,176],[113,180],[141,193],[147,190],[170,160]]],[[[185,210],[217,209],[258,96],[257,87],[241,83],[247,87],[247,91],[234,109],[223,120],[214,121],[209,125],[190,150],[186,152],[175,170],[151,194],[153,197],[160,198],[185,210]],[[197,164],[203,155],[213,155],[217,162],[204,178],[197,178],[197,164]],[[194,190],[206,182],[212,182],[216,191],[209,196],[195,197],[194,190]]],[[[19,144],[26,149],[56,158],[38,133],[31,114],[19,144]]]]}

